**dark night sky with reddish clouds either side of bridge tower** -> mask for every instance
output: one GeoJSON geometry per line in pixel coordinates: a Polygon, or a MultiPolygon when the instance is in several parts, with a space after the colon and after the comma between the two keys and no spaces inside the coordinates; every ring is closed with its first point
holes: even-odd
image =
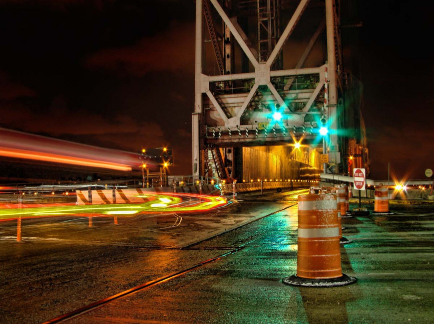
{"type": "MultiPolygon", "coordinates": [[[[369,177],[387,178],[390,162],[399,178],[425,178],[434,5],[361,2],[369,177]]],[[[193,0],[1,0],[0,126],[131,152],[173,147],[171,173],[190,174],[194,19],[193,0]]]]}

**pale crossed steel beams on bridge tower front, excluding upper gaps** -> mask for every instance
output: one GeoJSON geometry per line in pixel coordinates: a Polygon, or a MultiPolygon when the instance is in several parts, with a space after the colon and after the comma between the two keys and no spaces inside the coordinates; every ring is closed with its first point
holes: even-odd
{"type": "MultiPolygon", "coordinates": [[[[293,33],[309,0],[299,2],[282,35],[264,61],[261,61],[259,53],[252,46],[254,42],[250,42],[247,32],[241,30],[236,19],[228,16],[218,0],[209,0],[254,70],[225,75],[203,73],[202,1],[196,0],[195,112],[192,139],[194,176],[200,175],[200,165],[203,164],[199,161],[200,150],[210,144],[221,147],[279,145],[294,143],[301,138],[306,143],[315,144],[318,142],[321,116],[327,117],[330,129],[337,130],[339,81],[336,61],[340,53],[337,53],[339,46],[335,43],[338,31],[334,0],[325,1],[325,17],[318,22],[318,28],[295,68],[281,70],[273,69],[273,64],[283,51],[285,42],[293,33]],[[304,68],[324,26],[328,61],[325,65],[304,68]],[[300,80],[308,80],[309,86],[300,86],[300,80]],[[326,85],[328,96],[325,103],[323,97],[326,85]],[[275,122],[270,117],[276,109],[284,115],[282,122],[275,122]]],[[[258,21],[258,25],[260,23],[258,21]]],[[[339,156],[336,132],[331,132],[328,144],[329,151],[339,156]]]]}

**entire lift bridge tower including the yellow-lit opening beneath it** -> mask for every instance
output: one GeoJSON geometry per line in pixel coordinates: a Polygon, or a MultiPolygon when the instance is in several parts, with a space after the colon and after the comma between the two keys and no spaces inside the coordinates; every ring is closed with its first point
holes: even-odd
{"type": "Polygon", "coordinates": [[[196,0],[195,177],[368,167],[353,2],[196,0]]]}

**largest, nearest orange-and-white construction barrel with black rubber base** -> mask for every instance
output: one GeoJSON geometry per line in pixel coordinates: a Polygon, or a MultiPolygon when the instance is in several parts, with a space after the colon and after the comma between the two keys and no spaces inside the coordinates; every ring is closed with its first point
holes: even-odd
{"type": "Polygon", "coordinates": [[[342,274],[337,198],[333,194],[298,196],[297,275],[288,285],[335,287],[355,278],[342,274]]]}

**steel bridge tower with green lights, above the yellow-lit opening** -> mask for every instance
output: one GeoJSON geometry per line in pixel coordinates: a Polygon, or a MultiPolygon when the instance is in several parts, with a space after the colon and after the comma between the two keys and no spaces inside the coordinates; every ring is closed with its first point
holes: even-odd
{"type": "Polygon", "coordinates": [[[344,107],[340,2],[196,0],[194,177],[217,163],[240,178],[241,148],[296,143],[327,150],[335,171],[345,169],[345,115],[358,112],[344,107]],[[321,120],[329,129],[324,143],[321,120]],[[216,154],[223,159],[213,164],[216,154]]]}

